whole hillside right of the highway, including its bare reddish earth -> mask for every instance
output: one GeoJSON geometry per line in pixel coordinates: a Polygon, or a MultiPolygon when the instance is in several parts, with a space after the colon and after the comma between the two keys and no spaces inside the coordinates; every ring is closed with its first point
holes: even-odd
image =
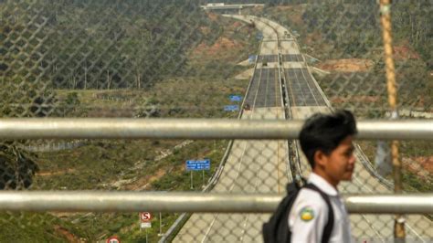
{"type": "MultiPolygon", "coordinates": [[[[399,109],[432,112],[433,30],[428,23],[427,2],[396,1],[393,5],[394,58],[399,109]]],[[[309,65],[330,72],[314,74],[334,108],[349,109],[359,118],[384,118],[388,111],[383,43],[377,5],[340,2],[287,4],[263,13],[289,26],[308,58],[309,65]]],[[[375,162],[376,143],[361,142],[364,153],[375,162]]],[[[402,142],[407,191],[431,192],[433,177],[426,166],[432,159],[428,142],[402,142]]]]}

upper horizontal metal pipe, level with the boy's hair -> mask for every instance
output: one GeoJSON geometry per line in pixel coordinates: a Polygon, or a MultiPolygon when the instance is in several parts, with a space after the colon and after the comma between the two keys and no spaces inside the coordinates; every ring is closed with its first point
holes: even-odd
{"type": "MultiPolygon", "coordinates": [[[[295,139],[303,121],[0,119],[0,139],[295,139]]],[[[433,140],[433,120],[360,121],[362,140],[433,140]]]]}

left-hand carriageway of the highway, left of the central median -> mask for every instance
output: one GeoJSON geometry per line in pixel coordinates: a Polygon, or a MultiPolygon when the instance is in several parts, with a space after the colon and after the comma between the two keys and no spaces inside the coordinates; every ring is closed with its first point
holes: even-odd
{"type": "MultiPolygon", "coordinates": [[[[244,101],[251,110],[243,111],[241,119],[284,120],[277,35],[267,25],[256,26],[263,42],[244,101]]],[[[288,153],[287,141],[235,141],[212,192],[284,193],[291,181],[288,153]]],[[[194,214],[174,242],[261,241],[261,226],[268,218],[265,214],[194,214]]]]}

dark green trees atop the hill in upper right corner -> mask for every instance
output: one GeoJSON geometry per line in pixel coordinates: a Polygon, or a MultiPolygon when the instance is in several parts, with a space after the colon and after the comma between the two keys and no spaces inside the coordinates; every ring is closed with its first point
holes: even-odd
{"type": "MultiPolygon", "coordinates": [[[[433,68],[431,50],[433,30],[429,23],[433,16],[428,9],[433,6],[428,1],[397,2],[393,5],[393,36],[396,44],[408,41],[417,50],[428,68],[433,68]]],[[[302,19],[309,31],[320,31],[327,42],[333,43],[335,52],[331,57],[364,57],[382,45],[382,30],[375,1],[362,4],[312,5],[306,8],[302,19]],[[336,13],[336,14],[335,14],[336,13]]]]}

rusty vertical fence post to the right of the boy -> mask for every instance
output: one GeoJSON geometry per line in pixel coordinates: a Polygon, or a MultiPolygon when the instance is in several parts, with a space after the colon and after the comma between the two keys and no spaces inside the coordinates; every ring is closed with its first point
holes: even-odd
{"type": "MultiPolygon", "coordinates": [[[[391,119],[397,119],[396,68],[394,66],[392,46],[391,0],[380,0],[380,15],[385,49],[386,90],[388,92],[389,107],[392,112],[391,119]]],[[[402,164],[398,157],[398,141],[392,142],[391,155],[393,160],[394,193],[401,194],[403,187],[402,164]]],[[[405,217],[403,215],[396,215],[394,222],[394,240],[395,242],[405,242],[405,238],[405,217]]]]}

